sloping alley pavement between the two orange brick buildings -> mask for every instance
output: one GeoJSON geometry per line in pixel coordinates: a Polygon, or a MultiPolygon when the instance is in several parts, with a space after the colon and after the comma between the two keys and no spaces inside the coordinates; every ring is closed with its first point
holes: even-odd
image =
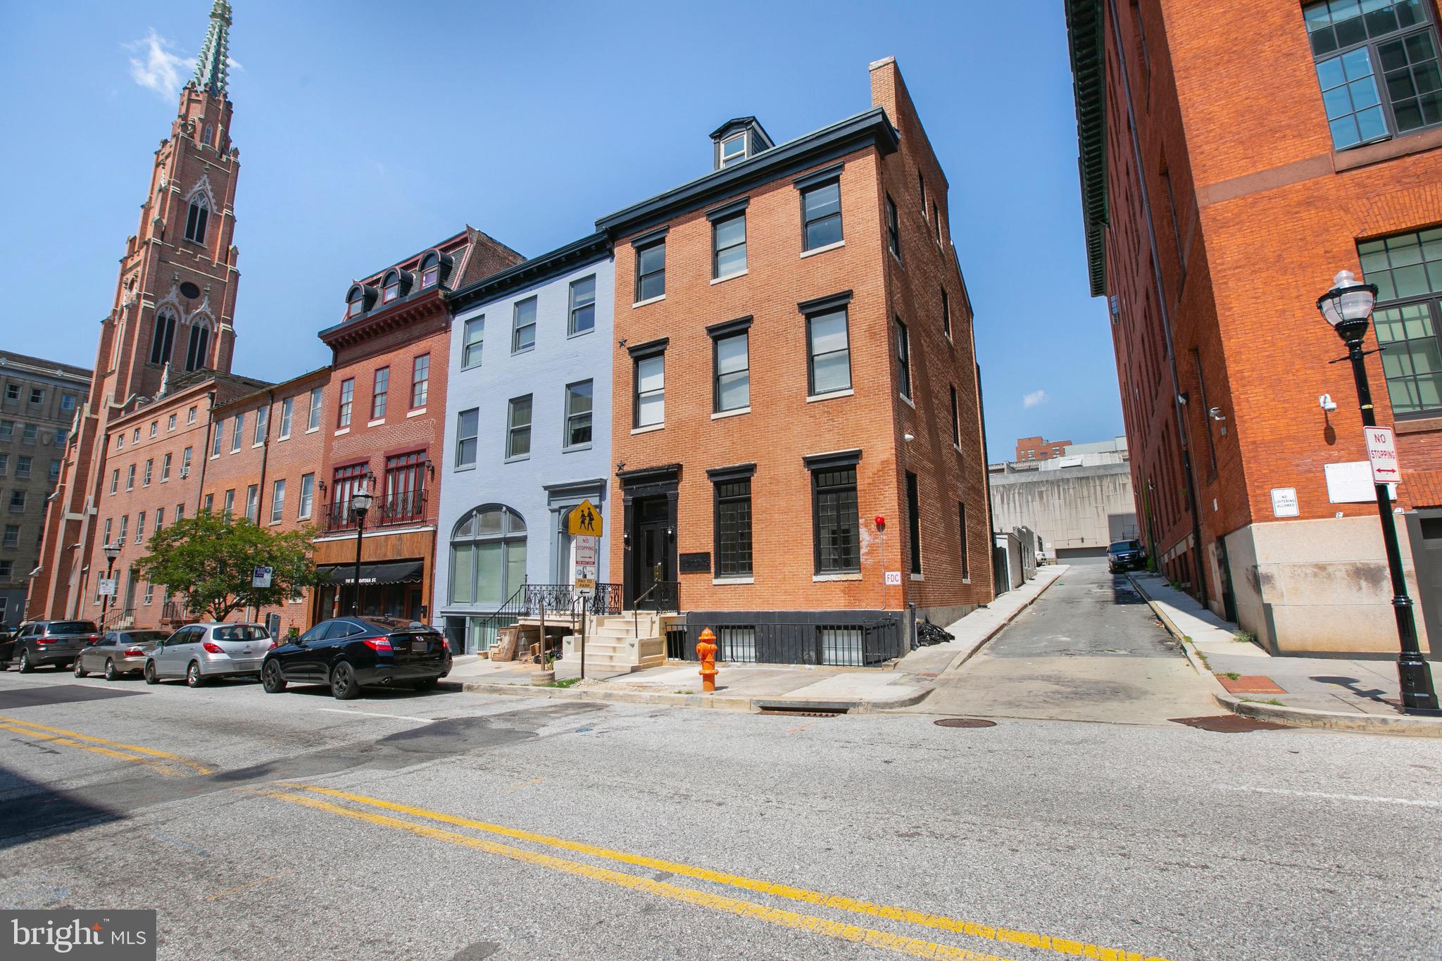
{"type": "Polygon", "coordinates": [[[1105,563],[1071,566],[913,710],[1142,725],[1220,713],[1146,599],[1105,563]]]}

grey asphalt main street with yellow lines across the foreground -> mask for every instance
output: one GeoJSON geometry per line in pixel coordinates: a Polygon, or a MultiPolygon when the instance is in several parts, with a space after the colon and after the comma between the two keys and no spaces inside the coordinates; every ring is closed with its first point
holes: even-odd
{"type": "Polygon", "coordinates": [[[0,736],[0,903],[163,958],[1442,954],[1432,741],[48,671],[0,736]]]}

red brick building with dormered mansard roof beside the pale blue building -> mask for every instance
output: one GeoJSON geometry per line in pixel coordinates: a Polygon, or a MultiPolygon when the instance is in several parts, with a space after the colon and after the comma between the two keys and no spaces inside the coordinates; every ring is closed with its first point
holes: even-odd
{"type": "Polygon", "coordinates": [[[435,467],[446,437],[448,291],[521,262],[466,228],[428,251],[350,285],[339,324],[320,331],[333,352],[324,389],[324,462],[317,481],[316,565],[332,581],[314,618],[352,611],[356,514],[375,501],[360,545],[360,609],[425,618],[435,569],[435,467]]]}

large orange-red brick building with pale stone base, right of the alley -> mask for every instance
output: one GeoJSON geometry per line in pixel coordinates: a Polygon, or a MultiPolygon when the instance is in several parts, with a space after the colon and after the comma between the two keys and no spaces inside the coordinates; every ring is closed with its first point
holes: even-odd
{"type": "Polygon", "coordinates": [[[1315,307],[1353,271],[1380,288],[1367,369],[1438,658],[1438,4],[1247,4],[1242,33],[1240,6],[1066,7],[1092,294],[1162,569],[1273,651],[1397,650],[1357,395],[1315,307]]]}

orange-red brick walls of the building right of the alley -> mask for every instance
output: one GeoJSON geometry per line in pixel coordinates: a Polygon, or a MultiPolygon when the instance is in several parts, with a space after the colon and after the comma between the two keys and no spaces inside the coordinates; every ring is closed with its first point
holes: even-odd
{"type": "MultiPolygon", "coordinates": [[[[1203,545],[1275,520],[1279,487],[1296,490],[1302,519],[1371,513],[1370,504],[1328,499],[1324,467],[1366,460],[1366,450],[1350,367],[1330,363],[1344,349],[1315,301],[1338,269],[1363,274],[1358,241],[1442,222],[1442,134],[1432,128],[1334,150],[1296,4],[1249,10],[1244,42],[1234,23],[1195,4],[1132,7],[1109,7],[1105,19],[1106,259],[1144,536],[1148,507],[1162,552],[1191,532],[1184,437],[1203,545]],[[1318,406],[1322,393],[1338,403],[1335,412],[1318,406]]],[[[1430,10],[1435,17],[1435,3],[1430,10]]],[[[1367,346],[1376,346],[1371,336],[1367,346]]],[[[1380,359],[1367,366],[1377,419],[1392,424],[1380,359]]],[[[1442,419],[1403,421],[1397,429],[1399,503],[1439,503],[1442,419]]],[[[1168,573],[1195,579],[1195,559],[1175,558],[1168,573]]],[[[1208,595],[1217,589],[1208,578],[1208,595]]]]}

